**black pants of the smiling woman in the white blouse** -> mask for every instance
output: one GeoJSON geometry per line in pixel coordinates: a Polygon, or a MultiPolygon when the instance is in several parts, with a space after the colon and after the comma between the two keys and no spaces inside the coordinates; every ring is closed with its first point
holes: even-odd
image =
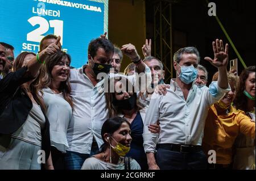
{"type": "Polygon", "coordinates": [[[51,146],[52,163],[55,170],[64,170],[64,153],[51,146]]]}

